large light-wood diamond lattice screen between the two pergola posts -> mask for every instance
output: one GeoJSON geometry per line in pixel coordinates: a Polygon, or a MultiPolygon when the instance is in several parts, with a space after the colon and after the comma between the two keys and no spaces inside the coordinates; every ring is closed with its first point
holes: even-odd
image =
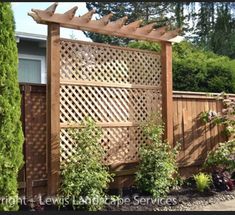
{"type": "Polygon", "coordinates": [[[155,52],[61,40],[61,162],[73,155],[69,127],[92,117],[103,128],[106,164],[138,161],[139,125],[161,112],[161,63],[155,52]]]}

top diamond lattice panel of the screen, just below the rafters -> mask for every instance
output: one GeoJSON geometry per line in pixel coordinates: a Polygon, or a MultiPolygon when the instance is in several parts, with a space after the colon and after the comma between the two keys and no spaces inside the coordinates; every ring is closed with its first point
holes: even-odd
{"type": "Polygon", "coordinates": [[[61,41],[61,79],[160,86],[160,56],[92,43],[61,41]]]}

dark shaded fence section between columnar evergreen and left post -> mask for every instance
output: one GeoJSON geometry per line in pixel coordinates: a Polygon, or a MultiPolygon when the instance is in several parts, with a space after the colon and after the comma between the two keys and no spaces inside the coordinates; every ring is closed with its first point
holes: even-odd
{"type": "Polygon", "coordinates": [[[20,194],[47,193],[46,86],[21,84],[25,164],[19,174],[20,194]]]}

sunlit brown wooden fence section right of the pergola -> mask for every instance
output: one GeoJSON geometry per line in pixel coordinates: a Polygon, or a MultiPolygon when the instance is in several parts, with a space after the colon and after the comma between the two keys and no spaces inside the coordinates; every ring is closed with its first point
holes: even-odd
{"type": "Polygon", "coordinates": [[[219,142],[226,141],[221,126],[204,124],[200,120],[203,111],[221,112],[223,102],[217,95],[174,91],[174,144],[181,144],[178,163],[184,176],[197,171],[208,152],[219,142]]]}

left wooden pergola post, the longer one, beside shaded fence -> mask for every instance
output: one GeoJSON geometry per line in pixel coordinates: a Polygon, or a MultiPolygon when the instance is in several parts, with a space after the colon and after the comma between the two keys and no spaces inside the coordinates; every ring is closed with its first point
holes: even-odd
{"type": "Polygon", "coordinates": [[[60,170],[60,25],[48,25],[47,38],[48,194],[57,194],[60,170]]]}

